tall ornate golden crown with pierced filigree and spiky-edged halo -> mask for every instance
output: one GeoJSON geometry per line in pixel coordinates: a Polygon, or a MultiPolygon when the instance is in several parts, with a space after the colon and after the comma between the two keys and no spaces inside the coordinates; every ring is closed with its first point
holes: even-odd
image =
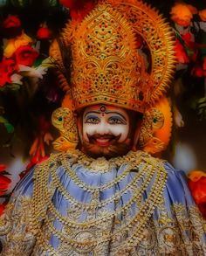
{"type": "MultiPolygon", "coordinates": [[[[173,32],[156,10],[141,1],[101,2],[81,22],[66,25],[62,45],[54,44],[51,54],[65,77],[70,68],[65,87],[74,109],[105,103],[145,112],[171,79],[173,32]],[[148,49],[146,58],[138,49],[138,37],[148,49]],[[63,51],[72,59],[69,67],[63,51]]],[[[65,85],[62,76],[61,81],[65,85]]]]}

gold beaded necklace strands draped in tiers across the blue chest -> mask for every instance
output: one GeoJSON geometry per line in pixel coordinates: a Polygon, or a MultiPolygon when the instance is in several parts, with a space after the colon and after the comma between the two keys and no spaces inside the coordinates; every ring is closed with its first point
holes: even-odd
{"type": "MultiPolygon", "coordinates": [[[[61,156],[61,161],[63,163],[65,163],[65,161],[67,160],[67,157],[61,156]]],[[[147,158],[147,157],[146,157],[147,158]]],[[[106,243],[107,241],[110,240],[114,240],[116,238],[116,236],[122,232],[122,230],[129,230],[131,228],[135,227],[135,232],[132,236],[130,236],[125,243],[122,244],[122,246],[134,246],[137,245],[141,239],[143,238],[143,228],[144,226],[147,224],[148,222],[148,218],[151,216],[152,212],[154,211],[154,208],[160,204],[161,201],[161,197],[162,197],[162,191],[164,189],[165,183],[166,183],[166,179],[167,179],[167,175],[166,175],[166,171],[164,170],[162,163],[157,163],[156,160],[154,160],[154,158],[151,159],[146,159],[144,160],[144,164],[145,164],[145,168],[143,168],[142,170],[144,170],[144,172],[146,174],[148,174],[148,178],[144,179],[144,181],[142,182],[140,189],[136,190],[136,192],[134,193],[133,197],[128,200],[128,202],[126,204],[124,204],[120,209],[118,209],[117,211],[113,211],[112,213],[109,212],[105,217],[103,218],[96,218],[90,221],[86,221],[84,223],[77,223],[74,221],[71,221],[68,218],[65,218],[63,216],[61,216],[57,209],[52,205],[52,194],[47,190],[47,186],[48,186],[48,176],[50,173],[50,166],[52,166],[52,169],[54,170],[54,168],[57,167],[57,165],[55,164],[55,162],[57,163],[59,157],[53,157],[48,161],[49,163],[44,163],[41,164],[38,169],[35,171],[35,183],[34,183],[34,197],[33,197],[33,201],[34,201],[34,222],[35,225],[38,227],[38,243],[40,243],[41,246],[43,246],[47,251],[54,253],[51,255],[58,255],[55,254],[55,251],[52,249],[52,246],[47,245],[49,243],[49,241],[47,241],[44,237],[44,233],[41,231],[40,226],[39,226],[39,217],[44,218],[45,219],[45,225],[48,229],[50,229],[50,231],[52,233],[55,234],[55,236],[58,237],[58,239],[63,242],[65,240],[64,236],[62,236],[62,232],[59,232],[58,230],[56,230],[51,222],[51,219],[49,219],[46,216],[46,207],[48,207],[48,210],[51,211],[52,216],[54,218],[57,218],[58,221],[60,221],[63,225],[66,226],[70,226],[73,229],[77,229],[77,230],[86,230],[86,229],[90,229],[93,226],[98,226],[100,225],[102,222],[106,222],[109,221],[113,218],[116,218],[120,213],[125,213],[127,212],[131,205],[134,204],[134,202],[138,202],[138,204],[140,204],[141,201],[141,197],[142,197],[142,193],[148,188],[148,184],[151,182],[151,180],[154,178],[154,182],[152,184],[150,193],[148,195],[148,198],[145,200],[145,202],[143,202],[141,204],[140,210],[137,212],[137,214],[134,216],[134,218],[131,219],[130,222],[128,222],[126,225],[121,225],[120,229],[117,229],[115,232],[110,233],[110,234],[106,234],[105,236],[102,236],[100,241],[97,242],[96,239],[91,240],[89,242],[79,242],[75,239],[68,239],[66,238],[66,242],[69,243],[75,250],[79,249],[79,248],[86,248],[88,246],[95,247],[97,246],[97,244],[101,244],[101,243],[106,243]],[[46,206],[46,207],[45,207],[46,206]]],[[[142,162],[142,161],[141,161],[142,162]]],[[[142,165],[141,163],[139,163],[139,165],[142,165]]],[[[65,168],[70,168],[71,166],[68,164],[65,164],[64,166],[65,168]]],[[[134,168],[134,167],[133,167],[134,168]]],[[[139,169],[139,171],[141,172],[141,168],[139,168],[139,166],[136,166],[137,169],[139,169]]],[[[131,167],[130,167],[131,170],[131,167]]],[[[129,171],[129,169],[127,170],[129,171]]],[[[52,173],[52,171],[51,171],[52,173]]],[[[69,170],[68,172],[69,174],[72,173],[71,170],[69,170]]],[[[76,176],[72,176],[72,178],[74,177],[74,179],[76,179],[76,176]]],[[[136,180],[136,176],[134,176],[134,180],[136,180]]],[[[142,173],[139,175],[139,178],[142,178],[145,176],[142,176],[142,173]]],[[[52,178],[54,181],[54,186],[57,186],[58,190],[59,190],[59,183],[57,183],[57,179],[55,178],[55,176],[53,176],[52,174],[52,178]]],[[[119,180],[119,179],[118,179],[119,180]]],[[[113,181],[113,183],[116,183],[117,180],[115,180],[115,182],[113,181]]],[[[78,180],[78,184],[79,187],[81,188],[82,185],[84,186],[84,188],[86,189],[86,184],[85,183],[81,183],[81,181],[78,180]]],[[[112,184],[109,183],[109,187],[112,184]]],[[[89,187],[86,191],[90,191],[90,192],[95,192],[95,190],[103,190],[105,188],[107,188],[106,185],[101,186],[101,187],[96,187],[95,189],[91,187],[89,187]]],[[[128,189],[128,188],[127,188],[128,189]]],[[[125,192],[125,190],[122,190],[123,192],[125,192]]],[[[120,192],[122,192],[120,191],[120,192]]],[[[60,192],[63,192],[62,194],[65,196],[66,192],[64,190],[61,190],[60,192]]],[[[118,197],[120,196],[120,192],[117,193],[118,197]]],[[[122,193],[121,193],[122,194],[122,193]]],[[[69,195],[67,193],[67,195],[69,195]]],[[[68,198],[71,199],[71,198],[68,198]]],[[[108,202],[111,202],[111,200],[115,200],[116,199],[116,195],[113,195],[113,197],[109,198],[108,202]]],[[[70,201],[70,200],[69,200],[70,201]]],[[[107,201],[107,199],[106,199],[107,201]]],[[[71,202],[71,201],[70,201],[71,202]]],[[[71,204],[73,203],[73,201],[71,202],[71,204]]],[[[76,204],[79,204],[79,202],[74,202],[76,204]]],[[[102,207],[104,204],[106,204],[107,202],[99,202],[98,207],[102,207]]],[[[93,202],[91,203],[92,205],[93,202]]],[[[81,207],[83,206],[83,209],[90,209],[91,206],[89,206],[89,204],[82,204],[81,207]],[[85,208],[86,207],[86,208],[85,208]]],[[[96,206],[96,205],[95,205],[96,206]]],[[[94,206],[92,206],[93,208],[94,206]]],[[[120,248],[122,248],[122,246],[120,246],[120,248]]],[[[117,254],[118,255],[118,254],[117,254]]]]}

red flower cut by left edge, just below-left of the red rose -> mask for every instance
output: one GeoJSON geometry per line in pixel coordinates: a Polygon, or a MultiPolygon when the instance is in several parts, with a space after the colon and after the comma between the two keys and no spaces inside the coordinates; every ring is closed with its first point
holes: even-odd
{"type": "Polygon", "coordinates": [[[17,70],[17,64],[14,59],[3,59],[0,63],[0,87],[11,83],[10,76],[17,70]]]}

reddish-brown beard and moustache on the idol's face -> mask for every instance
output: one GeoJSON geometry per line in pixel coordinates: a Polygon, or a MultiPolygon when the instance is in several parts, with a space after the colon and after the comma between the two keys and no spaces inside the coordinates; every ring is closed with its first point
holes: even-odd
{"type": "Polygon", "coordinates": [[[89,142],[85,140],[82,142],[82,151],[86,153],[88,156],[92,156],[93,158],[105,156],[106,159],[116,157],[116,156],[124,156],[127,154],[129,150],[132,149],[131,139],[127,138],[124,142],[118,142],[120,139],[120,135],[87,135],[89,142]],[[108,146],[100,146],[96,143],[96,139],[109,139],[110,143],[108,146]]]}

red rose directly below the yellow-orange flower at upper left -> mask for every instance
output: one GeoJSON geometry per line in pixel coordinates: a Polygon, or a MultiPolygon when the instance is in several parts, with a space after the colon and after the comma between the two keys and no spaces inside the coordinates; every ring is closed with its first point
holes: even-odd
{"type": "Polygon", "coordinates": [[[38,52],[31,45],[22,45],[14,52],[14,57],[18,65],[32,66],[38,58],[38,52]]]}

